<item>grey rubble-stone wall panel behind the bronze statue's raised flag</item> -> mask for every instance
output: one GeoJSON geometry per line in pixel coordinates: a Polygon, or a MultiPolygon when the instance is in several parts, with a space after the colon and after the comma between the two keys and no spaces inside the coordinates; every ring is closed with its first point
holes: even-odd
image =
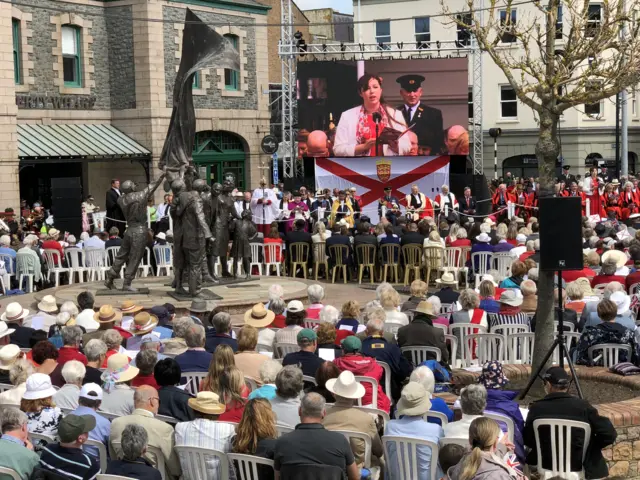
{"type": "MultiPolygon", "coordinates": [[[[213,12],[196,11],[196,14],[203,22],[229,22],[231,25],[241,23],[255,23],[255,21],[247,16],[235,16],[227,14],[218,14],[213,12]]],[[[173,84],[176,78],[176,66],[180,64],[180,59],[176,58],[178,51],[178,43],[176,38],[180,37],[180,30],[176,28],[176,24],[184,21],[185,10],[176,7],[164,7],[163,17],[168,20],[164,23],[164,63],[165,63],[165,86],[167,96],[167,108],[173,106],[173,84]]],[[[214,27],[218,33],[227,33],[222,27],[214,27]]],[[[244,78],[240,81],[245,83],[247,88],[239,95],[226,96],[219,88],[219,82],[224,81],[224,77],[220,78],[216,69],[209,69],[201,82],[206,82],[209,87],[206,95],[194,95],[193,103],[195,108],[216,108],[229,110],[255,110],[258,108],[258,83],[256,81],[256,32],[255,28],[242,28],[240,41],[243,43],[240,50],[241,61],[244,62],[243,73],[244,78]]]]}

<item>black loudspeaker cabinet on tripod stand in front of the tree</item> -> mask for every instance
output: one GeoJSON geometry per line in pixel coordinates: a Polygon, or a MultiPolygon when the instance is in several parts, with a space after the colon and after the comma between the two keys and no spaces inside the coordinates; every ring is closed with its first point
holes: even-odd
{"type": "Polygon", "coordinates": [[[580,198],[541,198],[539,206],[540,269],[582,269],[580,198]]]}

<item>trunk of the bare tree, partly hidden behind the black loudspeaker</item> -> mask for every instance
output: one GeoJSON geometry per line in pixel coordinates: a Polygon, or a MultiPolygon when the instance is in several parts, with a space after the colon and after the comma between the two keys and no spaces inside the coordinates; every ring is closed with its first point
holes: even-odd
{"type": "MultiPolygon", "coordinates": [[[[550,102],[553,102],[552,99],[550,102]]],[[[550,103],[548,102],[548,103],[550,103]]],[[[548,107],[551,105],[547,105],[548,107]]],[[[555,193],[556,183],[556,160],[560,154],[558,143],[557,125],[558,116],[551,113],[551,108],[543,108],[540,112],[540,135],[536,144],[536,158],[538,159],[538,175],[540,178],[540,197],[550,197],[555,193]]],[[[543,232],[541,232],[543,233],[543,232]]],[[[536,310],[536,336],[533,353],[532,372],[542,363],[544,355],[547,353],[554,340],[554,275],[552,271],[539,271],[538,279],[538,307],[536,310]]],[[[549,363],[543,368],[543,372],[550,366],[549,363]]],[[[534,384],[532,393],[540,393],[542,384],[537,381],[534,384]]]]}

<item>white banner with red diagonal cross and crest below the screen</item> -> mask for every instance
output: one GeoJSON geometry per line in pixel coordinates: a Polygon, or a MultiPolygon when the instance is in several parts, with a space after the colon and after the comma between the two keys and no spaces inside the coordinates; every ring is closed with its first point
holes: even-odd
{"type": "Polygon", "coordinates": [[[433,200],[442,185],[449,185],[449,156],[316,158],[315,173],[316,190],[356,187],[362,214],[376,224],[385,187],[392,188],[391,196],[403,207],[412,185],[433,200]]]}

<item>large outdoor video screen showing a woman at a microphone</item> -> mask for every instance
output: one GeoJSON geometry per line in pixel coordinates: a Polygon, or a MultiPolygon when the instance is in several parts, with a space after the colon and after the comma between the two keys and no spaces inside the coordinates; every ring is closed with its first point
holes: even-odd
{"type": "Polygon", "coordinates": [[[468,155],[466,58],[298,63],[298,157],[468,155]]]}

